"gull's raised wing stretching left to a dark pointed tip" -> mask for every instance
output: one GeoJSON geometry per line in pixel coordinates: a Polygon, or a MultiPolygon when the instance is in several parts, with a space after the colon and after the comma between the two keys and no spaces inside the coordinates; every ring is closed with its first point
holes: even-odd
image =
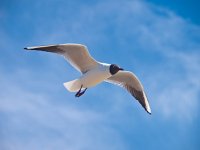
{"type": "Polygon", "coordinates": [[[26,50],[40,50],[61,54],[78,71],[85,73],[97,65],[87,47],[81,44],[58,44],[47,46],[26,47],[26,50]]]}

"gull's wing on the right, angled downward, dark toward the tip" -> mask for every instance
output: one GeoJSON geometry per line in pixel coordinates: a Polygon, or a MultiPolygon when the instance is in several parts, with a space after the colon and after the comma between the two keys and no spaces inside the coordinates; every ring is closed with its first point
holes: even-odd
{"type": "Polygon", "coordinates": [[[106,82],[113,83],[124,87],[132,96],[139,101],[143,108],[151,114],[151,108],[147,100],[146,94],[142,87],[142,84],[137,77],[129,71],[119,71],[115,75],[111,76],[106,82]]]}

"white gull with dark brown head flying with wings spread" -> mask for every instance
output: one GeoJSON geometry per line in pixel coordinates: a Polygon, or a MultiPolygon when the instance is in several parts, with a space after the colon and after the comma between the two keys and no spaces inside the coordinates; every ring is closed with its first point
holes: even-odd
{"type": "Polygon", "coordinates": [[[64,56],[81,73],[78,79],[63,83],[68,91],[76,92],[75,97],[80,97],[88,88],[105,81],[125,88],[151,114],[151,108],[144,88],[136,75],[130,71],[125,71],[116,64],[96,61],[92,58],[85,45],[67,43],[33,46],[24,49],[52,52],[64,56]]]}

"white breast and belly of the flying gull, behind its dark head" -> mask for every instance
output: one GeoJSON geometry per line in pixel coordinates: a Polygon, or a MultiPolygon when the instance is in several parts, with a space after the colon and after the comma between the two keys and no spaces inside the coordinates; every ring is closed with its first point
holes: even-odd
{"type": "Polygon", "coordinates": [[[83,76],[80,77],[80,81],[84,88],[95,86],[105,79],[111,77],[109,64],[99,64],[97,68],[94,68],[83,76]]]}

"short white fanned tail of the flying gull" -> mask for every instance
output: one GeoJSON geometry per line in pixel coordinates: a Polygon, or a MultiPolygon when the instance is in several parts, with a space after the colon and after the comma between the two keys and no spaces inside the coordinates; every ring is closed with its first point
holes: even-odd
{"type": "Polygon", "coordinates": [[[65,82],[63,85],[68,91],[77,92],[81,87],[81,82],[79,79],[75,79],[69,82],[65,82]]]}

